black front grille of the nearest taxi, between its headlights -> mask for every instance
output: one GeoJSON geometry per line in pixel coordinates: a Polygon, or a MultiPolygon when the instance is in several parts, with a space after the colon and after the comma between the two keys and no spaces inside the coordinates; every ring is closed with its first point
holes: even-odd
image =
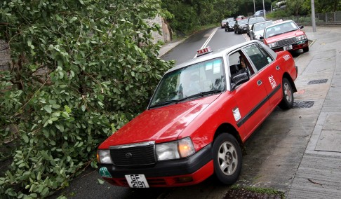
{"type": "Polygon", "coordinates": [[[116,166],[153,165],[156,163],[154,144],[110,149],[112,162],[116,166]]]}

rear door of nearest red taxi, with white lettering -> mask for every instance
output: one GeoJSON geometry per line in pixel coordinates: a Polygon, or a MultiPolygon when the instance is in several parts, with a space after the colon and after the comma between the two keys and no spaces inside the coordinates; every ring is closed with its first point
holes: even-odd
{"type": "Polygon", "coordinates": [[[274,58],[267,53],[262,46],[258,43],[247,46],[243,49],[254,67],[258,69],[260,79],[267,90],[267,98],[269,100],[270,109],[274,109],[282,99],[281,82],[283,72],[279,60],[274,58]]]}

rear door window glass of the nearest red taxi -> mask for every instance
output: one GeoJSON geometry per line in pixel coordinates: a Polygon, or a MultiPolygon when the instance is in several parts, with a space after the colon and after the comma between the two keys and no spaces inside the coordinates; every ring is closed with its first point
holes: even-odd
{"type": "Polygon", "coordinates": [[[267,53],[267,50],[262,48],[259,44],[247,46],[246,48],[243,48],[243,50],[245,50],[258,71],[274,61],[272,56],[267,53]]]}

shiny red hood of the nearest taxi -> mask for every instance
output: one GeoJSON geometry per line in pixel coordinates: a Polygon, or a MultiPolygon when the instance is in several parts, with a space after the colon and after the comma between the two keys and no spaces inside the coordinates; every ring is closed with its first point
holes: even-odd
{"type": "Polygon", "coordinates": [[[220,95],[210,95],[192,101],[145,110],[108,137],[100,145],[100,149],[139,142],[155,141],[160,143],[175,140],[189,123],[192,123],[218,96],[220,95]]]}

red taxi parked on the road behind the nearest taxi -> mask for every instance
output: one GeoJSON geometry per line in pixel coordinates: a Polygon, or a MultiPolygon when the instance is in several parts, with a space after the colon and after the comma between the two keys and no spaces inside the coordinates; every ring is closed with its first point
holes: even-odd
{"type": "Polygon", "coordinates": [[[263,42],[275,52],[281,50],[309,51],[308,38],[305,32],[292,20],[286,20],[268,26],[264,29],[264,36],[260,37],[263,42]]]}

